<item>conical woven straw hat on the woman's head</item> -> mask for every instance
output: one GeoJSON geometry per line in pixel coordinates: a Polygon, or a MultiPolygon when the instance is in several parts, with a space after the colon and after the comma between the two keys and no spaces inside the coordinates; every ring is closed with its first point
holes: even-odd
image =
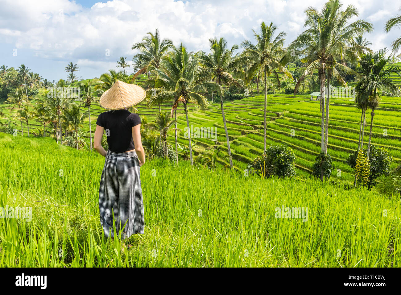
{"type": "Polygon", "coordinates": [[[141,86],[117,80],[109,90],[102,94],[100,105],[107,110],[121,110],[135,106],[145,97],[146,91],[141,86]]]}

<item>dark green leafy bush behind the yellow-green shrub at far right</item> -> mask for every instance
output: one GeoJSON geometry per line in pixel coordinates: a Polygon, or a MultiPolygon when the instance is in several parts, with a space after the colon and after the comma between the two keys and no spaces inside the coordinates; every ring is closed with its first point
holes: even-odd
{"type": "MultiPolygon", "coordinates": [[[[358,153],[359,151],[356,150],[354,153],[349,155],[346,161],[348,166],[353,169],[356,167],[358,153]]],[[[366,157],[367,149],[363,150],[363,155],[366,157]]],[[[373,144],[371,145],[371,151],[369,154],[369,179],[367,181],[367,186],[369,188],[377,184],[377,181],[375,180],[377,177],[381,175],[387,176],[390,174],[391,161],[393,161],[393,157],[389,155],[385,148],[377,148],[373,144]]]]}

